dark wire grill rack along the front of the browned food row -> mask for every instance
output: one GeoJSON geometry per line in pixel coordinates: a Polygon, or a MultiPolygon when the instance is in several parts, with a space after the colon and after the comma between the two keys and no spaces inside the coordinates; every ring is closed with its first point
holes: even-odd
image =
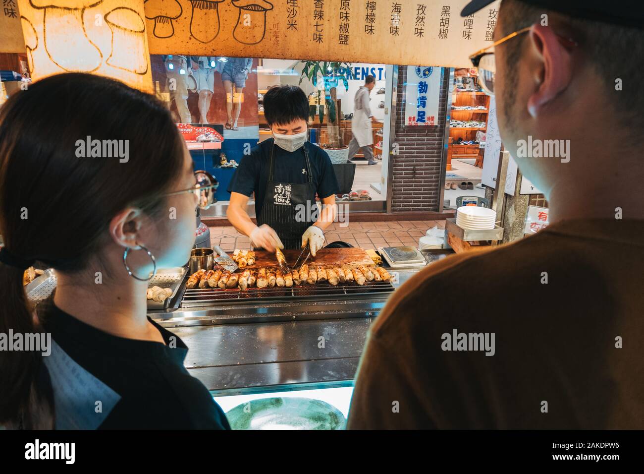
{"type": "Polygon", "coordinates": [[[386,281],[370,281],[363,285],[354,284],[337,284],[332,285],[328,282],[316,284],[301,284],[290,288],[274,286],[273,288],[231,288],[222,290],[220,288],[194,288],[185,290],[184,298],[181,302],[182,308],[193,308],[196,306],[207,306],[214,302],[231,302],[231,301],[266,301],[266,300],[283,300],[283,299],[334,299],[345,295],[368,295],[373,293],[390,293],[393,286],[386,281]]]}

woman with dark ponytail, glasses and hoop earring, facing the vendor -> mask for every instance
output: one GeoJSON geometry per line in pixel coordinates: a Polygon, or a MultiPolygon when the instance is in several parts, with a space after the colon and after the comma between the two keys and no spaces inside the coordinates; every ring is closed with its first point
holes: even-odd
{"type": "Polygon", "coordinates": [[[146,315],[155,264],[189,257],[194,188],[171,115],[125,84],[55,75],[0,108],[0,334],[51,335],[45,351],[0,351],[0,424],[229,428],[185,344],[146,315]],[[37,311],[35,261],[57,275],[37,311]]]}

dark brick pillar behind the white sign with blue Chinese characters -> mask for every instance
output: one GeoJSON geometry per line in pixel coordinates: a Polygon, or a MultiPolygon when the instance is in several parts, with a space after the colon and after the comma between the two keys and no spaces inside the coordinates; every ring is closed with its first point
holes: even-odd
{"type": "Polygon", "coordinates": [[[438,125],[404,126],[403,99],[407,66],[398,68],[394,142],[399,145],[399,154],[390,155],[390,166],[393,166],[392,212],[439,210],[440,157],[445,133],[445,101],[450,81],[449,69],[446,68],[443,72],[438,125]]]}

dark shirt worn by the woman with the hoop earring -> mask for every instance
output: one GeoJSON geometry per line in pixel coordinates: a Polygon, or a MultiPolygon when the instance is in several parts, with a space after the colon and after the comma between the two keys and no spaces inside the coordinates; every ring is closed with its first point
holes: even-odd
{"type": "Polygon", "coordinates": [[[110,335],[53,303],[43,319],[52,334],[52,354],[43,360],[57,429],[230,429],[185,369],[184,342],[151,319],[167,345],[110,335]]]}

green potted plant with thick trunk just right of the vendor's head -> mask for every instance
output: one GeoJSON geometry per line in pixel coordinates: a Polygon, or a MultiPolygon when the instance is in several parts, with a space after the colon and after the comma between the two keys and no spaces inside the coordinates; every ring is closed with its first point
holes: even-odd
{"type": "MultiPolygon", "coordinates": [[[[328,148],[342,148],[342,137],[339,133],[340,110],[337,106],[336,84],[340,82],[349,90],[349,79],[354,76],[351,72],[350,63],[337,63],[328,61],[300,61],[304,64],[302,74],[299,76],[299,84],[306,78],[314,87],[317,87],[318,81],[324,81],[325,90],[325,107],[319,107],[317,117],[319,123],[323,123],[325,110],[328,111],[328,148]]],[[[318,103],[321,103],[321,92],[318,91],[318,103]]],[[[314,117],[314,111],[311,118],[314,117]]]]}

